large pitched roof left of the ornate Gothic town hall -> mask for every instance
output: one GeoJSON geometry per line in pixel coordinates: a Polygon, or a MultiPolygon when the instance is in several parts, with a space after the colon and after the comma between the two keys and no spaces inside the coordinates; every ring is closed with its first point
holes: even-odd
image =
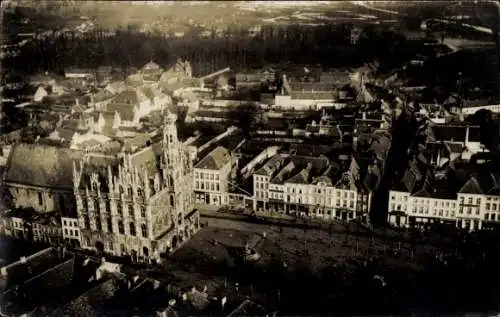
{"type": "Polygon", "coordinates": [[[82,152],[67,148],[17,144],[9,155],[5,181],[73,190],[73,161],[82,156],[82,152]]]}

